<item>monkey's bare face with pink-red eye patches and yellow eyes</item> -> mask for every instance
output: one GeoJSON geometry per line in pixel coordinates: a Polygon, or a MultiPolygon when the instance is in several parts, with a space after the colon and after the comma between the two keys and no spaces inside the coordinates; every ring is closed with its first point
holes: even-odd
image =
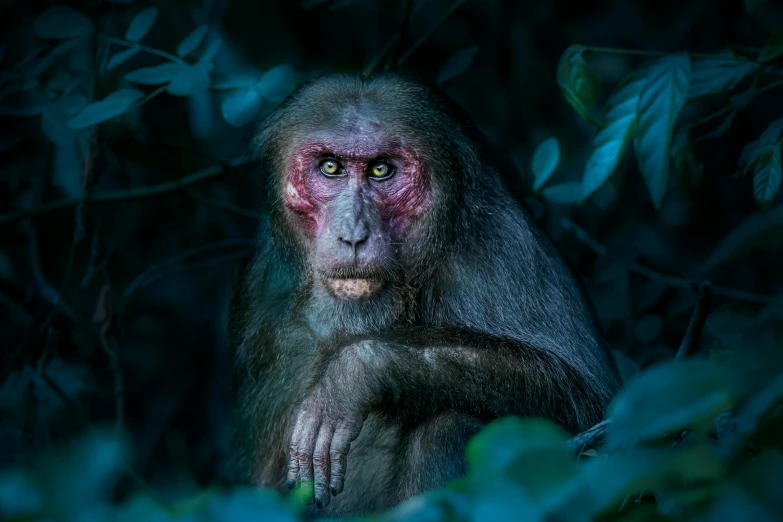
{"type": "Polygon", "coordinates": [[[298,143],[283,200],[310,243],[317,284],[339,299],[372,298],[405,273],[406,239],[428,208],[422,164],[357,112],[298,143]]]}

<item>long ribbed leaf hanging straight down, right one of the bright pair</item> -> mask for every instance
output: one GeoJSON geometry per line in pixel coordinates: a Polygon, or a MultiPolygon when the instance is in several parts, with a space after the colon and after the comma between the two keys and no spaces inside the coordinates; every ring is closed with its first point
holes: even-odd
{"type": "Polygon", "coordinates": [[[634,150],[655,208],[661,207],[669,181],[672,129],[685,105],[691,62],[686,54],[667,56],[653,65],[639,95],[634,150]]]}

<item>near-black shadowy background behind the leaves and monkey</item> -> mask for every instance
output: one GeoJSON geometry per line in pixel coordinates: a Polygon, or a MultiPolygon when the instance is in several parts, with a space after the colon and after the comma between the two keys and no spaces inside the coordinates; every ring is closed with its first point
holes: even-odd
{"type": "MultiPolygon", "coordinates": [[[[208,24],[208,39],[223,38],[214,73],[290,64],[299,78],[361,71],[400,26],[404,4],[309,3],[318,5],[65,2],[93,19],[96,33],[117,36],[141,9],[156,6],[159,16],[144,44],[173,52],[195,27],[208,24]]],[[[473,117],[500,161],[512,167],[509,187],[587,282],[624,377],[670,359],[684,335],[697,295],[663,276],[694,277],[720,239],[757,211],[750,183],[738,175],[737,158],[783,114],[783,96],[779,90],[759,95],[739,111],[727,133],[697,140],[696,154],[704,163],[701,186],[686,190],[672,175],[659,210],[632,155],[588,201],[559,205],[532,193],[532,153],[544,139],[557,137],[562,159],[550,184],[579,180],[592,130],[560,93],[558,58],[575,43],[665,52],[714,52],[730,44],[758,48],[783,24],[782,2],[761,4],[469,0],[438,25],[450,0],[413,2],[400,49],[435,31],[401,69],[434,83],[456,51],[478,46],[468,69],[444,89],[473,117]],[[566,230],[563,218],[606,246],[605,255],[566,230]],[[632,262],[663,276],[629,273],[632,262]]],[[[0,2],[5,45],[0,70],[13,70],[40,43],[30,27],[52,5],[0,2]]],[[[122,77],[128,71],[161,62],[142,52],[96,73],[92,56],[103,45],[94,38],[83,55],[67,58],[70,71],[88,78],[83,86],[88,98],[127,87],[122,77]]],[[[604,99],[645,60],[614,53],[588,59],[605,85],[604,99]]],[[[136,87],[145,93],[155,88],[136,87]]],[[[16,96],[0,94],[0,106],[21,103],[16,96]]],[[[121,423],[132,441],[133,471],[162,494],[225,476],[231,433],[227,307],[239,258],[255,234],[252,212],[260,189],[252,182],[252,168],[227,167],[222,175],[157,196],[32,212],[63,198],[78,201],[84,193],[182,179],[242,157],[254,123],[240,128],[226,123],[223,96],[216,90],[156,96],[132,114],[101,124],[94,137],[80,138],[92,159],[84,154],[69,159],[53,146],[41,132],[40,115],[0,116],[0,214],[23,214],[0,221],[0,465],[23,465],[34,450],[87,425],[121,423]],[[84,165],[90,162],[83,192],[84,165]],[[152,277],[139,285],[141,274],[152,277]]],[[[689,104],[683,117],[708,114],[726,99],[689,104]]],[[[259,116],[274,106],[264,102],[259,116]]],[[[694,132],[706,134],[720,121],[694,132]]],[[[721,265],[709,279],[769,297],[783,288],[782,262],[779,249],[760,249],[721,265]]],[[[726,302],[731,300],[717,295],[714,306],[726,302]]],[[[705,349],[710,342],[707,336],[705,349]]]]}

